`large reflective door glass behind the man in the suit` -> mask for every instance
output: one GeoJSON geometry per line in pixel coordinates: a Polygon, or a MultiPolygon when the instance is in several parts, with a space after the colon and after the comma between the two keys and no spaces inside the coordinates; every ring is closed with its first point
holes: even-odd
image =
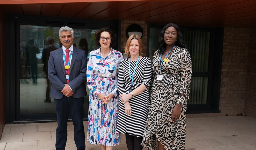
{"type": "MultiPolygon", "coordinates": [[[[87,54],[98,48],[94,40],[96,31],[74,29],[73,45],[87,54]]],[[[50,52],[60,46],[59,27],[20,25],[20,114],[55,113],[47,76],[48,59],[50,52]]],[[[88,112],[89,98],[85,96],[84,99],[84,112],[88,112]]]]}

